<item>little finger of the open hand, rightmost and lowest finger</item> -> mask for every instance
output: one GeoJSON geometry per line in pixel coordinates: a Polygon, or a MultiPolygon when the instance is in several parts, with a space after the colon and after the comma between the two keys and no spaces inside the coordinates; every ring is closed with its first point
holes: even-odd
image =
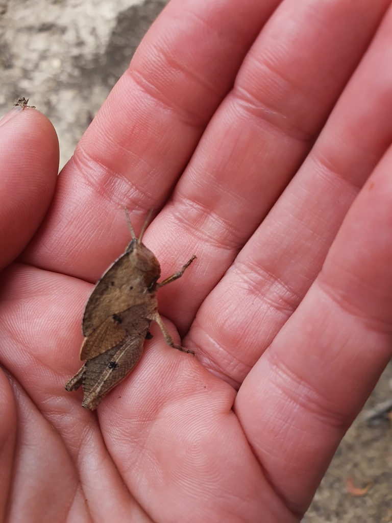
{"type": "Polygon", "coordinates": [[[297,513],[392,355],[391,168],[389,149],[319,277],[237,396],[258,459],[297,513]]]}

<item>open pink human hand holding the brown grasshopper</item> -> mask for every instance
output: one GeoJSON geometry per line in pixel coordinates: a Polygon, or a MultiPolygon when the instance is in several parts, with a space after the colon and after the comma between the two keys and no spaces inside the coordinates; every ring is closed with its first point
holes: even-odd
{"type": "Polygon", "coordinates": [[[171,0],[58,179],[47,119],[0,126],[2,521],[301,520],[391,357],[389,4],[171,0]],[[198,257],[158,292],[196,355],[153,324],[88,412],[124,207],[163,278],[198,257]]]}

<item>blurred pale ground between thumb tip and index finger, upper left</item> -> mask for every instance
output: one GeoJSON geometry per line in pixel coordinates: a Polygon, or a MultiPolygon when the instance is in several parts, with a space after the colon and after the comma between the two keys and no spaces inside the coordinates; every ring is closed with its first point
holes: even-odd
{"type": "Polygon", "coordinates": [[[0,0],[0,116],[19,96],[52,121],[60,167],[167,0],[0,0]]]}

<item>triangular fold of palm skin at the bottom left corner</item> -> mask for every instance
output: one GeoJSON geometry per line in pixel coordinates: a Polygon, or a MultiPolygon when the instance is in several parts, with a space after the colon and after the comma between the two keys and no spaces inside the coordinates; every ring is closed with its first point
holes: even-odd
{"type": "Polygon", "coordinates": [[[18,416],[8,521],[92,521],[77,473],[59,434],[10,379],[18,416]]]}

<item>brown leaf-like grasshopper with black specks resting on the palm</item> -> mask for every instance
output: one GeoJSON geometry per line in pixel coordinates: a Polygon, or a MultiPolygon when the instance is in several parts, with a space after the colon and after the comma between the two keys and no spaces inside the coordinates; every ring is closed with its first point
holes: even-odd
{"type": "Polygon", "coordinates": [[[102,398],[127,376],[140,360],[143,343],[151,338],[149,327],[155,320],[170,347],[193,354],[176,345],[158,313],[157,290],[180,278],[196,256],[166,280],[158,283],[160,265],[142,243],[152,210],[136,238],[128,211],[126,219],[132,241],[99,279],[87,300],[82,331],[85,336],[80,359],[83,367],[65,385],[75,391],[83,385],[82,406],[94,410],[102,398]]]}

